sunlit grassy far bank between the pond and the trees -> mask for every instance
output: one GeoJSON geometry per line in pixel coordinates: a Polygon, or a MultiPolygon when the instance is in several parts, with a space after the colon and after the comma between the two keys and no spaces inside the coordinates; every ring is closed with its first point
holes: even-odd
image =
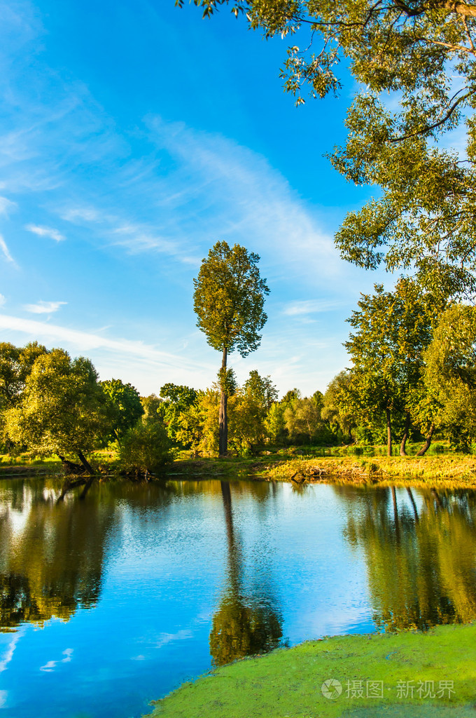
{"type": "MultiPolygon", "coordinates": [[[[165,477],[172,480],[223,478],[476,488],[476,456],[439,451],[424,457],[386,457],[384,447],[284,447],[263,449],[249,457],[190,458],[190,452],[179,452],[166,468],[165,477]]],[[[104,449],[90,461],[100,473],[118,472],[115,452],[104,449]]],[[[0,457],[0,477],[11,475],[54,474],[61,472],[58,459],[42,460],[22,454],[0,457]]]]}

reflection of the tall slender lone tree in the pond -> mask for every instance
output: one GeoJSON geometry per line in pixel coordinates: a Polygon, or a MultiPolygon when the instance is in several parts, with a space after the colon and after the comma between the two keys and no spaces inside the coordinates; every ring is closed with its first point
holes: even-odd
{"type": "Polygon", "coordinates": [[[261,583],[259,596],[245,594],[244,561],[234,532],[230,485],[224,481],[220,483],[228,556],[227,587],[210,632],[210,653],[215,666],[272,651],[282,638],[282,617],[273,605],[272,587],[261,583]]]}

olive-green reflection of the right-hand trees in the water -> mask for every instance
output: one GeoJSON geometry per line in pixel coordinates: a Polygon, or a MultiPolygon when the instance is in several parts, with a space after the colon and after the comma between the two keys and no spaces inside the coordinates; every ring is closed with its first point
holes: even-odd
{"type": "Polygon", "coordinates": [[[394,488],[380,488],[356,500],[353,490],[335,491],[346,502],[346,538],[366,558],[378,628],[424,630],[475,620],[473,492],[406,489],[397,498],[394,488]]]}

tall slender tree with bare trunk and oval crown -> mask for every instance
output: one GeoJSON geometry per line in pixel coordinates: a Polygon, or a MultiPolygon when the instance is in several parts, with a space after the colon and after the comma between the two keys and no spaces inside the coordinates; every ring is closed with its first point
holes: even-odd
{"type": "Polygon", "coordinates": [[[235,244],[216,242],[201,263],[194,279],[194,309],[197,327],[211,347],[222,352],[219,372],[219,455],[228,448],[227,358],[234,350],[247,356],[258,348],[267,315],[263,311],[265,295],[270,293],[258,269],[260,257],[235,244]]]}

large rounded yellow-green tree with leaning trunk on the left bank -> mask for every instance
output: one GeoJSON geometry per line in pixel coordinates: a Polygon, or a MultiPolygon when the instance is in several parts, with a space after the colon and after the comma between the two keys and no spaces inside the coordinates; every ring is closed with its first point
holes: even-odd
{"type": "Polygon", "coordinates": [[[73,453],[82,462],[109,426],[94,366],[84,357],[72,360],[62,349],[37,358],[22,400],[6,413],[6,429],[14,442],[41,456],[73,453]]]}

